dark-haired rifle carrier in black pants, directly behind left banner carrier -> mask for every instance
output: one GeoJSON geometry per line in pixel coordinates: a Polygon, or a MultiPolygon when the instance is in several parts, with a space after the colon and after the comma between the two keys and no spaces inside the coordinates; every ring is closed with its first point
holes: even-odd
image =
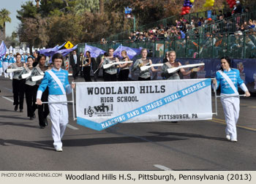
{"type": "MultiPolygon", "coordinates": [[[[42,76],[49,69],[50,66],[45,66],[46,57],[43,54],[39,54],[37,57],[37,64],[34,69],[32,69],[31,76],[42,76]]],[[[34,66],[34,64],[33,64],[34,66]]],[[[41,84],[42,80],[37,81],[37,88],[41,84]]],[[[42,101],[48,101],[48,88],[45,88],[41,97],[42,101]]],[[[45,129],[45,126],[48,126],[47,116],[49,114],[48,104],[42,104],[38,106],[38,118],[39,118],[39,129],[45,129]]]]}

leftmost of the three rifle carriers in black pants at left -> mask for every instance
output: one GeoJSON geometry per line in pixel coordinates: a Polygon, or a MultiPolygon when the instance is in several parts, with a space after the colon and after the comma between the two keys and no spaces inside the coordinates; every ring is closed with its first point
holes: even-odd
{"type": "MultiPolygon", "coordinates": [[[[8,69],[18,69],[18,67],[26,67],[26,64],[21,62],[20,53],[16,54],[16,63],[8,66],[8,69]]],[[[24,101],[24,86],[25,80],[20,79],[20,71],[13,72],[13,80],[12,80],[12,93],[13,93],[13,104],[15,105],[14,110],[18,110],[18,105],[20,104],[20,112],[23,112],[23,101],[24,101]]]]}

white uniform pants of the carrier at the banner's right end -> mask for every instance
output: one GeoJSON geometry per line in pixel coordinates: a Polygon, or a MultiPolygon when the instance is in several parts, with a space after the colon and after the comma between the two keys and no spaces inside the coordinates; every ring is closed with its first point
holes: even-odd
{"type": "Polygon", "coordinates": [[[226,134],[230,135],[231,139],[237,139],[236,123],[239,118],[240,99],[239,97],[222,97],[221,101],[227,123],[226,134]]]}

